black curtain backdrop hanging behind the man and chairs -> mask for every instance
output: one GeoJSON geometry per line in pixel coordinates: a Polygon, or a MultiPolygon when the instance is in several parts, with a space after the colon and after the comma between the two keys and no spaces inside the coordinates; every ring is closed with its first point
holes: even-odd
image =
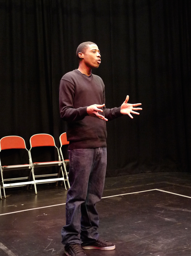
{"type": "Polygon", "coordinates": [[[142,103],[107,123],[107,176],[191,167],[191,1],[0,0],[0,138],[59,136],[59,83],[95,42],[106,106],[142,103]]]}

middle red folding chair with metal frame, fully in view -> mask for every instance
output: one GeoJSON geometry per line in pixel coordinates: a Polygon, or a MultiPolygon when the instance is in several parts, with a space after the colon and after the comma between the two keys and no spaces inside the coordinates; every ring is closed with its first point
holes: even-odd
{"type": "Polygon", "coordinates": [[[31,148],[29,150],[29,154],[30,154],[30,159],[32,162],[32,168],[33,168],[34,174],[36,174],[36,172],[35,172],[36,167],[48,167],[48,166],[59,166],[60,167],[58,173],[34,175],[35,183],[37,184],[37,183],[51,183],[51,182],[55,182],[55,181],[64,181],[64,185],[65,185],[65,189],[66,189],[64,173],[62,170],[63,161],[60,160],[59,150],[55,145],[53,136],[51,136],[50,134],[46,134],[46,133],[35,134],[30,138],[30,145],[31,145],[31,148]],[[57,160],[56,161],[55,160],[48,161],[48,162],[44,162],[44,161],[43,162],[33,162],[31,150],[34,147],[53,147],[54,149],[56,149],[56,152],[58,154],[57,160]],[[60,170],[62,173],[62,177],[59,177],[60,170]],[[56,178],[49,178],[49,177],[53,177],[53,176],[56,178]],[[36,179],[36,178],[42,178],[42,177],[48,177],[48,178],[40,179],[40,180],[36,179]]]}

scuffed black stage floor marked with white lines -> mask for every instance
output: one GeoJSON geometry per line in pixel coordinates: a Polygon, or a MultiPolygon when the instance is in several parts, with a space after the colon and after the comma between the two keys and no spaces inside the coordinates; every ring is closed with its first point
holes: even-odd
{"type": "MultiPolygon", "coordinates": [[[[0,201],[1,256],[64,256],[67,191],[37,185],[5,190],[0,201]]],[[[2,191],[3,192],[3,191],[2,191]]],[[[190,256],[191,174],[163,172],[106,178],[97,204],[100,236],[113,251],[84,250],[87,256],[190,256]]]]}

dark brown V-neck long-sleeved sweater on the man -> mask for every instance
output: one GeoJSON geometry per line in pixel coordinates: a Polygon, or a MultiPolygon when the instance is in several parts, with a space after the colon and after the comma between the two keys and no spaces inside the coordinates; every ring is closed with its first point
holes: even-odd
{"type": "MultiPolygon", "coordinates": [[[[105,104],[105,87],[97,75],[87,76],[75,69],[60,81],[60,116],[66,121],[68,149],[106,147],[106,121],[88,116],[87,107],[105,104]]],[[[119,108],[99,112],[108,120],[122,116],[119,108]]]]}

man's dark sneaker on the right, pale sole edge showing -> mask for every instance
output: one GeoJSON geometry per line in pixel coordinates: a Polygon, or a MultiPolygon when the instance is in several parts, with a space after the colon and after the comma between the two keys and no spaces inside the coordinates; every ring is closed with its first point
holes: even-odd
{"type": "Polygon", "coordinates": [[[99,249],[99,250],[114,250],[115,245],[103,240],[102,238],[98,238],[96,242],[93,243],[81,243],[81,248],[83,249],[99,249]]]}

